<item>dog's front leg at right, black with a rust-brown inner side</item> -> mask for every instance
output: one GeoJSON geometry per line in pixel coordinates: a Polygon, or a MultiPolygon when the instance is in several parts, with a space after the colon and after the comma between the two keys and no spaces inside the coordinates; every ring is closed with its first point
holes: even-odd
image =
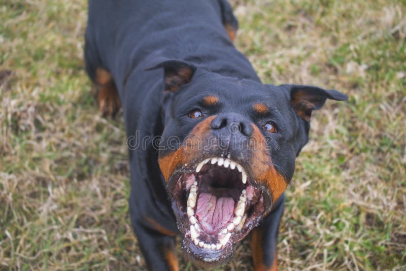
{"type": "Polygon", "coordinates": [[[275,209],[251,233],[251,250],[256,271],[278,270],[277,242],[279,223],[283,215],[285,194],[277,200],[275,209]]]}

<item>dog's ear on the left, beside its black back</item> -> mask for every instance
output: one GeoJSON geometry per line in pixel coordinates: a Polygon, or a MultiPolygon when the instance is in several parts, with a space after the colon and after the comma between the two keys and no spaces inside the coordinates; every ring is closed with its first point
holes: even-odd
{"type": "Polygon", "coordinates": [[[165,60],[152,67],[145,69],[151,71],[163,68],[165,91],[177,91],[183,84],[192,80],[196,66],[181,60],[165,60]]]}

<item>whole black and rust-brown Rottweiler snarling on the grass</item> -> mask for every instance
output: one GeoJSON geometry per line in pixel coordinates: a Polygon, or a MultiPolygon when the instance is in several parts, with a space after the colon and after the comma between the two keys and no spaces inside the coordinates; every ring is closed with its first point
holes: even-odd
{"type": "Polygon", "coordinates": [[[178,269],[176,234],[191,259],[216,265],[250,231],[255,268],[277,269],[283,192],[312,111],[347,99],[261,84],[236,28],[225,0],[89,3],[86,70],[100,111],[123,107],[131,224],[150,269],[178,269]]]}

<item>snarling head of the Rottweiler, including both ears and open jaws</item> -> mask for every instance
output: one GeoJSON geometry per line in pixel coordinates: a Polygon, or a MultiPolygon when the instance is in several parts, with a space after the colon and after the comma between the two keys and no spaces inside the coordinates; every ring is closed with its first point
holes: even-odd
{"type": "Polygon", "coordinates": [[[221,263],[291,181],[312,110],[347,96],[238,80],[177,60],[151,69],[158,67],[165,80],[159,166],[183,249],[200,263],[221,263]]]}

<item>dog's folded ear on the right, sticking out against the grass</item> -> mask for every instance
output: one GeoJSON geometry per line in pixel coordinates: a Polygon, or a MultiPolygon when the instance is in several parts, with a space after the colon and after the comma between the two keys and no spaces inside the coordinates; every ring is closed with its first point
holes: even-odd
{"type": "Polygon", "coordinates": [[[326,99],[348,100],[348,96],[334,89],[322,89],[314,86],[283,85],[290,91],[290,105],[300,118],[309,121],[312,111],[320,109],[326,99]]]}

